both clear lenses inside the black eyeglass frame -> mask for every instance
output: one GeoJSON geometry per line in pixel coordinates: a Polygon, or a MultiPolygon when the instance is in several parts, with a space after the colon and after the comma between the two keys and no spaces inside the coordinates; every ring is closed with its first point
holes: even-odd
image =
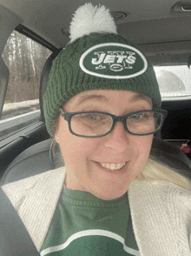
{"type": "MultiPolygon", "coordinates": [[[[137,135],[156,131],[161,125],[158,112],[139,112],[127,118],[128,131],[137,135]]],[[[81,113],[71,118],[71,130],[82,136],[101,136],[113,125],[113,118],[101,113],[81,113]]]]}

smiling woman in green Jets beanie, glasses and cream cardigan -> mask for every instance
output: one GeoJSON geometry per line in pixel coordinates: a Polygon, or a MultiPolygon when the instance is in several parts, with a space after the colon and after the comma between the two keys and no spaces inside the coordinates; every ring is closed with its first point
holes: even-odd
{"type": "Polygon", "coordinates": [[[41,255],[190,255],[190,182],[149,157],[166,117],[152,64],[104,6],[70,34],[44,95],[65,166],[4,192],[41,255]]]}

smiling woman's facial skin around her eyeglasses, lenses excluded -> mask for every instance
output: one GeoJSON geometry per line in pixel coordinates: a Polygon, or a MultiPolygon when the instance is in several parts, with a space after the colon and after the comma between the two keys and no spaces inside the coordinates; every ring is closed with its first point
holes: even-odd
{"type": "MultiPolygon", "coordinates": [[[[103,111],[122,116],[134,111],[151,110],[151,99],[133,91],[89,90],[78,93],[63,105],[65,112],[103,111]]],[[[153,135],[135,136],[124,130],[122,122],[101,138],[81,138],[69,132],[69,125],[60,115],[56,130],[66,166],[69,189],[85,191],[105,200],[117,199],[142,172],[147,163],[153,135]],[[126,163],[120,170],[115,167],[126,163]]]]}

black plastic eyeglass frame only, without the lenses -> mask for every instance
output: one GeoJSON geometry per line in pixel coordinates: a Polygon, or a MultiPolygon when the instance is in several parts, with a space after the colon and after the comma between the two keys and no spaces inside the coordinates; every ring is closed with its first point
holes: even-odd
{"type": "Polygon", "coordinates": [[[164,122],[164,119],[167,118],[167,115],[168,115],[168,111],[165,111],[165,110],[162,110],[162,109],[153,109],[153,110],[148,110],[148,111],[135,111],[135,112],[131,112],[131,113],[128,113],[124,116],[115,116],[113,114],[110,114],[110,113],[107,113],[107,112],[102,112],[102,111],[78,111],[78,112],[64,112],[62,108],[59,109],[59,112],[61,113],[61,115],[63,116],[64,120],[68,121],[68,124],[69,124],[69,131],[73,134],[73,135],[76,135],[77,137],[82,137],[82,138],[100,138],[100,137],[103,137],[103,136],[106,136],[108,135],[111,131],[113,131],[114,127],[115,127],[115,124],[117,122],[122,122],[123,124],[123,127],[125,129],[125,131],[128,131],[129,134],[132,134],[132,135],[135,135],[135,136],[147,136],[147,135],[150,135],[150,134],[154,134],[155,132],[157,131],[160,131],[161,130],[161,127],[163,125],[163,122],[164,122]],[[145,134],[136,134],[136,133],[133,133],[131,131],[128,130],[128,125],[127,125],[127,119],[128,117],[130,117],[131,115],[133,114],[137,114],[137,113],[140,113],[140,112],[158,112],[161,114],[161,125],[159,126],[159,128],[153,132],[149,132],[149,133],[145,133],[145,134]],[[105,115],[108,115],[110,116],[112,119],[113,119],[113,124],[111,126],[111,128],[109,129],[108,132],[102,134],[102,135],[98,135],[98,136],[85,136],[85,135],[79,135],[79,134],[76,134],[74,131],[72,131],[71,129],[71,118],[77,114],[85,114],[85,113],[98,113],[98,114],[105,114],[105,115]]]}

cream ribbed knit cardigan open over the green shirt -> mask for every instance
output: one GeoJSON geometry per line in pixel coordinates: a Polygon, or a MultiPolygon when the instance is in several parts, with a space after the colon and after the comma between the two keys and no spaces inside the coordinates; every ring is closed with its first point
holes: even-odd
{"type": "MultiPolygon", "coordinates": [[[[65,167],[3,185],[40,251],[63,188],[65,167]]],[[[141,256],[191,255],[191,192],[165,181],[135,179],[128,189],[141,256]]]]}

